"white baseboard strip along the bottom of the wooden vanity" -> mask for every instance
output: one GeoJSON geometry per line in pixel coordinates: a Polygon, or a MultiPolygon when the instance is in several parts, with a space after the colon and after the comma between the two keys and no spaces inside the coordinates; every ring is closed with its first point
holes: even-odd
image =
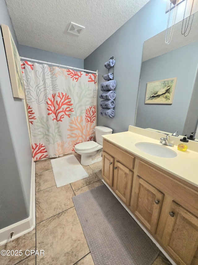
{"type": "Polygon", "coordinates": [[[124,205],[124,203],[118,198],[118,196],[110,189],[110,187],[105,183],[104,180],[102,182],[107,186],[107,188],[114,194],[114,196],[118,199],[118,201],[123,205],[123,207],[127,210],[127,212],[131,215],[131,217],[138,223],[138,225],[142,228],[142,230],[149,236],[149,238],[153,241],[153,243],[157,246],[157,248],[164,254],[164,256],[170,261],[171,264],[177,265],[172,258],[162,249],[162,247],[157,243],[157,241],[153,238],[152,235],[144,228],[144,226],[137,220],[137,218],[129,211],[129,209],[124,205]]]}

